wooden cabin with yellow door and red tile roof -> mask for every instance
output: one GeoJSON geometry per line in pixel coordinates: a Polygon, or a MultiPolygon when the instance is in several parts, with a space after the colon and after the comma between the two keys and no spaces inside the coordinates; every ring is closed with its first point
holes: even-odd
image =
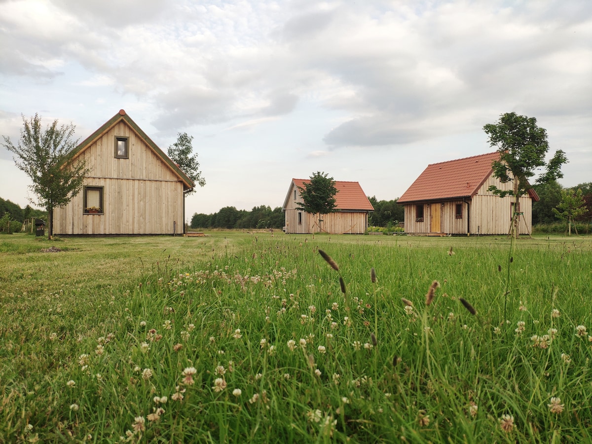
{"type": "MultiPolygon", "coordinates": [[[[408,234],[507,234],[514,212],[514,198],[500,198],[488,191],[512,189],[493,175],[492,164],[500,160],[493,152],[448,162],[432,163],[397,201],[405,206],[408,234]]],[[[532,231],[534,189],[519,199],[520,234],[532,231]]]]}

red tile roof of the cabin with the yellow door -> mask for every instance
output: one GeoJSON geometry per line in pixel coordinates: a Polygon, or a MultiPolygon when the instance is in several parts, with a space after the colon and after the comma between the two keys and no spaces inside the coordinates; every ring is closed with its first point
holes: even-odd
{"type": "Polygon", "coordinates": [[[499,152],[432,163],[420,174],[398,202],[473,197],[493,173],[491,164],[499,152]]]}

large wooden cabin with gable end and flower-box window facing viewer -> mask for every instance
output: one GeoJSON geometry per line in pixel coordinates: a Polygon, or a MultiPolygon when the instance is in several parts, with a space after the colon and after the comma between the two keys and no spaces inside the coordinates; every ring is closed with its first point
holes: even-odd
{"type": "Polygon", "coordinates": [[[53,233],[182,234],[184,193],[194,184],[121,110],[76,147],[83,189],[54,210],[53,233]]]}

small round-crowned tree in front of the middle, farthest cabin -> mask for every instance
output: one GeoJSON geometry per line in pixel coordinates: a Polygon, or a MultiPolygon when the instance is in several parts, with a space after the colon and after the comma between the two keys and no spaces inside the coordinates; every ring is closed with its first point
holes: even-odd
{"type": "Polygon", "coordinates": [[[337,211],[336,199],[337,188],[335,181],[329,177],[329,173],[317,171],[310,176],[310,182],[304,186],[297,186],[300,191],[303,203],[298,208],[306,213],[317,214],[318,229],[321,229],[320,214],[329,214],[337,211]]]}

